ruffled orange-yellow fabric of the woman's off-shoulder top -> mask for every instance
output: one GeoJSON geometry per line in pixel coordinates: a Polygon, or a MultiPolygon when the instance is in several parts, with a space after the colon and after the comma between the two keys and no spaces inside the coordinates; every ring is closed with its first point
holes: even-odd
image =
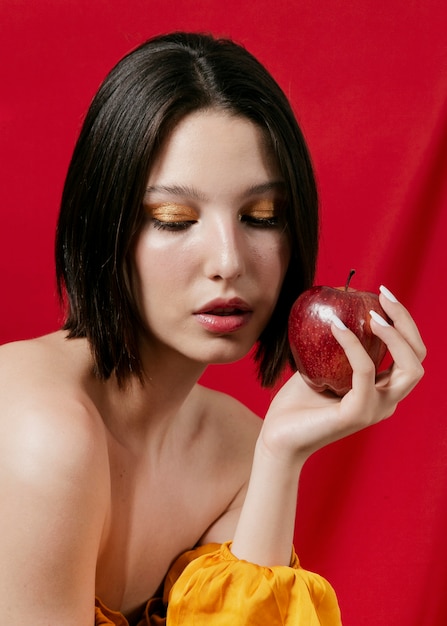
{"type": "MultiPolygon", "coordinates": [[[[170,568],[163,596],[146,605],[138,626],[340,626],[331,585],[304,570],[293,552],[290,567],[261,567],[237,559],[231,542],[182,554],[170,568]]],[[[95,626],[129,626],[96,601],[95,626]]]]}

